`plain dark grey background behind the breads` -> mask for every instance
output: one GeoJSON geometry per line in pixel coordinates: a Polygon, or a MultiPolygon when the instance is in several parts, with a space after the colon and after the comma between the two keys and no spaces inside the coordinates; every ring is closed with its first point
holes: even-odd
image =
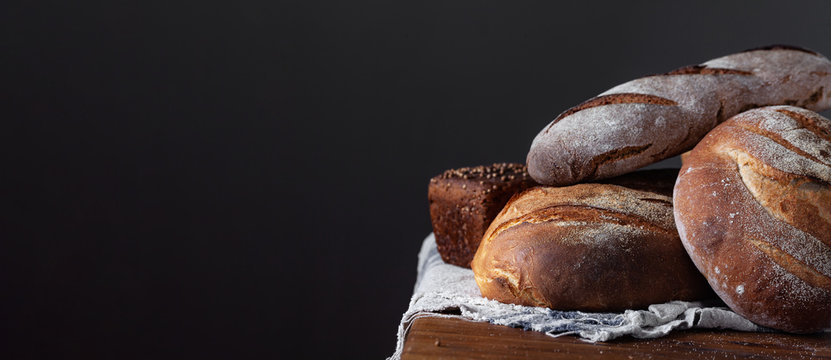
{"type": "MultiPolygon", "coordinates": [[[[831,2],[4,1],[4,358],[383,358],[428,179],[831,2]]],[[[828,115],[828,113],[826,113],[828,115]]]]}

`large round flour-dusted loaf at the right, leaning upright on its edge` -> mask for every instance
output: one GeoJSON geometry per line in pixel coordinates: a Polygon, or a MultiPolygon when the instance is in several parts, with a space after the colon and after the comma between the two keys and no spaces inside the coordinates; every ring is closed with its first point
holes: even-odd
{"type": "Polygon", "coordinates": [[[674,204],[731,309],[784,331],[831,328],[831,122],[792,106],[725,121],[684,156],[674,204]]]}

